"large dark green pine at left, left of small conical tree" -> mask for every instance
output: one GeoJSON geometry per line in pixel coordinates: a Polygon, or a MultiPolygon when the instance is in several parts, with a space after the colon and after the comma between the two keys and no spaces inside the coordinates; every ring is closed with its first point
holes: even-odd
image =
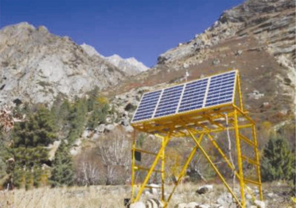
{"type": "Polygon", "coordinates": [[[15,160],[13,183],[17,187],[38,186],[41,166],[48,161],[46,146],[56,139],[55,117],[44,106],[37,107],[28,119],[15,123],[12,154],[15,160]]]}

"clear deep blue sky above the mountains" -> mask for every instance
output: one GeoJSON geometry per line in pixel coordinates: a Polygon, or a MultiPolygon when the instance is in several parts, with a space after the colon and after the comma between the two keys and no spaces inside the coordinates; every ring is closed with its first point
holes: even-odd
{"type": "Polygon", "coordinates": [[[87,43],[104,55],[135,57],[148,67],[159,54],[203,32],[243,0],[0,1],[0,26],[29,22],[87,43]]]}

